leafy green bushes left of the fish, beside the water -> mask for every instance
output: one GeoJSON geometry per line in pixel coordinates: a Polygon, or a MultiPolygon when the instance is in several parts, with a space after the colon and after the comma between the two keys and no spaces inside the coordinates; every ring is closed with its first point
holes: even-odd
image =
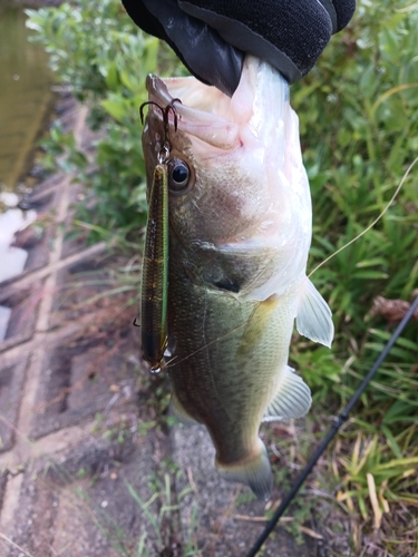
{"type": "Polygon", "coordinates": [[[88,203],[81,204],[77,217],[89,223],[91,242],[138,241],[138,231],[146,222],[138,114],[147,99],[145,78],[152,71],[184,70],[167,47],[135,27],[116,0],[80,0],[27,13],[27,25],[38,31],[33,40],[49,52],[58,81],[89,105],[89,125],[100,136],[91,173],[86,154],[76,149],[72,134],[66,135],[56,125],[42,143],[43,165],[54,169],[58,164],[75,172],[76,179],[90,192],[95,211],[89,211],[88,203]]]}

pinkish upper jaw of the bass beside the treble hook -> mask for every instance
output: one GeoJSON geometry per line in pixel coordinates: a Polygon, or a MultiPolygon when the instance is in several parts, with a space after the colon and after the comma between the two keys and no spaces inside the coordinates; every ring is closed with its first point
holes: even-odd
{"type": "MultiPolygon", "coordinates": [[[[202,84],[194,77],[165,78],[148,75],[146,88],[149,100],[161,107],[174,102],[178,129],[220,149],[234,149],[240,145],[240,126],[226,118],[231,99],[215,87],[202,84]]],[[[162,119],[159,110],[155,111],[162,119]]],[[[169,115],[173,125],[172,115],[169,115]]]]}

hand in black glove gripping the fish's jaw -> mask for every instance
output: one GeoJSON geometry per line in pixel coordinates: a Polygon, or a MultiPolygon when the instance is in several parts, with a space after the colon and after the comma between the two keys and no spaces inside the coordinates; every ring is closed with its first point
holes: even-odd
{"type": "Polygon", "coordinates": [[[164,39],[201,81],[232,96],[245,52],[290,84],[312,69],[356,0],[121,0],[144,31],[164,39]]]}

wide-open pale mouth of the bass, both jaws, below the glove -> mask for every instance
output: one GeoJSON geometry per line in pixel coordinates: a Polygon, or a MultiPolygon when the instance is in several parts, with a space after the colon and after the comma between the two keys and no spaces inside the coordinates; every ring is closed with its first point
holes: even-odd
{"type": "Polygon", "coordinates": [[[194,77],[161,79],[150,75],[146,88],[149,100],[163,108],[181,99],[182,104],[176,102],[178,128],[224,150],[251,141],[249,133],[256,141],[276,136],[275,129],[266,133],[266,128],[285,120],[288,114],[288,82],[275,69],[252,56],[246,57],[240,85],[231,98],[194,77]]]}

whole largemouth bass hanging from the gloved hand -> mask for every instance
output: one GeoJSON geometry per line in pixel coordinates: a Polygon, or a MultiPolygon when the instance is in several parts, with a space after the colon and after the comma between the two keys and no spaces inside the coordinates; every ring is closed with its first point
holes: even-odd
{"type": "Polygon", "coordinates": [[[288,367],[294,320],[313,341],[330,346],[333,336],[331,312],[307,277],[312,215],[298,117],[286,81],[251,56],[232,98],[193,77],[148,76],[147,89],[148,188],[169,143],[172,407],[205,424],[224,478],[266,499],[272,472],[260,424],[311,405],[288,367]],[[176,131],[163,123],[168,105],[176,131]]]}

